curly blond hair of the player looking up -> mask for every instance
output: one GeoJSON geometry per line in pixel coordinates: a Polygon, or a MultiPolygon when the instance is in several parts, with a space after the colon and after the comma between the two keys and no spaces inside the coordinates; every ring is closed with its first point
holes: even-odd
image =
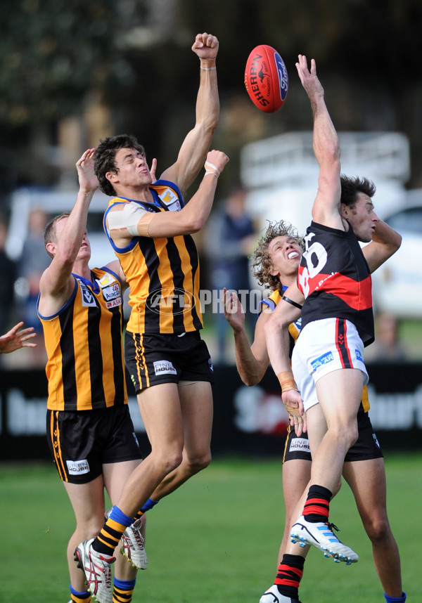
{"type": "Polygon", "coordinates": [[[272,291],[279,290],[282,284],[278,276],[273,276],[269,273],[272,262],[269,257],[268,246],[276,237],[295,239],[298,245],[302,249],[304,248],[302,237],[298,235],[296,228],[289,222],[285,222],[284,220],[271,222],[268,220],[267,230],[258,241],[258,246],[252,254],[252,273],[260,285],[272,291]]]}

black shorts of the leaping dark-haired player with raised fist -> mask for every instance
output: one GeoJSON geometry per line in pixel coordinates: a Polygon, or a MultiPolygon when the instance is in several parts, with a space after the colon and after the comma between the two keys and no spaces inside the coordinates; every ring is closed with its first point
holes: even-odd
{"type": "Polygon", "coordinates": [[[214,383],[207,344],[198,331],[179,335],[126,332],[124,360],[136,394],[146,387],[179,381],[214,383]]]}

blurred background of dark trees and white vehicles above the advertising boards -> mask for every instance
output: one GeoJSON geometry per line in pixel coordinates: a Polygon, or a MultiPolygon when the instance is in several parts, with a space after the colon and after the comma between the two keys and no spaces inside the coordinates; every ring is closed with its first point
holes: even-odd
{"type": "MultiPolygon", "coordinates": [[[[343,171],[373,178],[376,211],[403,235],[374,277],[378,341],[369,361],[422,358],[422,4],[418,0],[3,0],[0,6],[0,331],[18,320],[39,331],[35,301],[49,262],[42,231],[71,209],[75,162],[105,136],[134,134],[158,172],[193,127],[198,32],[215,34],[221,114],[213,147],[230,163],[197,236],[202,286],[257,289],[250,260],[267,219],[309,222],[316,191],[312,116],[295,70],[316,59],[343,150],[343,171]],[[285,105],[258,111],[243,85],[248,54],[274,46],[289,75],[285,105]]],[[[195,190],[195,186],[191,188],[195,190]]],[[[106,200],[89,221],[92,266],[113,257],[102,232],[106,200]]],[[[248,316],[252,333],[256,316],[248,316]]],[[[216,362],[234,363],[224,316],[205,311],[216,362]]],[[[4,366],[44,366],[21,350],[4,366]]]]}

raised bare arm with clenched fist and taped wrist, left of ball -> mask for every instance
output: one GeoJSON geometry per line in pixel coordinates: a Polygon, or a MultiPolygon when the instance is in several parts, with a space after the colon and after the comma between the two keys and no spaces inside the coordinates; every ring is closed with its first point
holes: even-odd
{"type": "Polygon", "coordinates": [[[198,176],[210,148],[219,119],[219,96],[215,59],[219,43],[212,34],[198,34],[192,51],[200,59],[200,83],[196,99],[196,123],[184,139],[177,161],[166,169],[161,179],[177,183],[183,194],[198,176]]]}

